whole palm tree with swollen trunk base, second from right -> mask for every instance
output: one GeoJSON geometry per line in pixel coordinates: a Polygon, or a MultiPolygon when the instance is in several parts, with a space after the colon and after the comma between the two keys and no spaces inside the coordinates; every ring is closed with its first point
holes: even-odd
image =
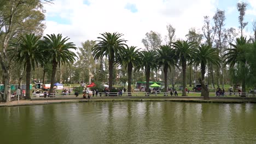
{"type": "Polygon", "coordinates": [[[218,56],[218,50],[213,49],[210,45],[202,44],[195,51],[194,58],[196,65],[201,65],[201,79],[199,78],[199,82],[201,83],[201,97],[203,99],[210,99],[209,97],[209,89],[205,85],[205,69],[208,63],[212,63],[220,67],[220,58],[218,56]]]}

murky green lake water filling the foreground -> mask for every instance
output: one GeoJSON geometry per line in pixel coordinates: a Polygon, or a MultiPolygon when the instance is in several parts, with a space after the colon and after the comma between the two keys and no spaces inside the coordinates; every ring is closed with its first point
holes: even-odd
{"type": "Polygon", "coordinates": [[[0,107],[0,143],[256,143],[256,104],[171,101],[0,107]]]}

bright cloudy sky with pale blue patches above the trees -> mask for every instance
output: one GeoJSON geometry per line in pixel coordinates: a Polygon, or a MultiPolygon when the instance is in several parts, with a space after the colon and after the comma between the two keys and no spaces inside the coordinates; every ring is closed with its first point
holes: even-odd
{"type": "MultiPolygon", "coordinates": [[[[101,33],[118,32],[127,45],[144,48],[141,41],[147,32],[158,32],[164,39],[169,24],[176,28],[176,38],[185,40],[189,29],[201,31],[203,16],[212,18],[217,8],[225,10],[225,28],[238,28],[237,2],[241,0],[54,0],[44,4],[44,34],[61,33],[80,47],[101,33]]],[[[256,0],[243,2],[248,4],[245,33],[252,35],[256,0]]]]}

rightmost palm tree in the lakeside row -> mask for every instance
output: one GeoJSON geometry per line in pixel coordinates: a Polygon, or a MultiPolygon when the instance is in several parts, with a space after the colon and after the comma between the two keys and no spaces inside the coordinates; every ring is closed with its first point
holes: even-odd
{"type": "Polygon", "coordinates": [[[227,53],[225,53],[224,61],[225,64],[230,64],[230,67],[234,67],[235,64],[241,64],[241,68],[243,71],[243,79],[242,79],[242,92],[246,91],[246,49],[247,44],[249,44],[249,40],[246,40],[245,37],[236,38],[236,44],[230,43],[233,48],[226,49],[227,53]]]}

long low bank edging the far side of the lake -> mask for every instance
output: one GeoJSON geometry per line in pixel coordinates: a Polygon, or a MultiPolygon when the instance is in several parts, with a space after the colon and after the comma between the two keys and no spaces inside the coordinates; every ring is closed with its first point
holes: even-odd
{"type": "Polygon", "coordinates": [[[187,102],[187,103],[256,103],[256,98],[211,98],[210,100],[203,100],[202,97],[100,97],[82,99],[31,99],[31,100],[20,100],[12,101],[10,103],[0,103],[0,107],[5,106],[22,106],[22,105],[44,105],[44,104],[57,104],[57,103],[88,103],[97,101],[176,101],[176,102],[187,102]]]}

